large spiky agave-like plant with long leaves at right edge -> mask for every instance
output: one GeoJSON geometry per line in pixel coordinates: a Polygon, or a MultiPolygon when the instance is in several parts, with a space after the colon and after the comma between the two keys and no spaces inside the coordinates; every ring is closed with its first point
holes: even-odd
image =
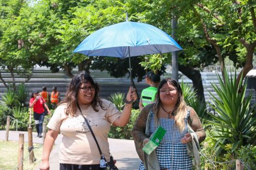
{"type": "Polygon", "coordinates": [[[212,130],[216,132],[217,138],[216,153],[225,149],[225,145],[232,144],[234,151],[242,145],[253,144],[256,140],[256,112],[254,107],[250,107],[251,94],[245,98],[247,82],[242,85],[240,80],[237,86],[236,73],[229,79],[229,74],[225,71],[225,82],[217,75],[220,86],[212,83],[212,87],[217,96],[210,93],[211,103],[217,115],[210,114],[213,120],[208,120],[212,125],[212,130]],[[254,111],[253,111],[254,110],[254,111]]]}

